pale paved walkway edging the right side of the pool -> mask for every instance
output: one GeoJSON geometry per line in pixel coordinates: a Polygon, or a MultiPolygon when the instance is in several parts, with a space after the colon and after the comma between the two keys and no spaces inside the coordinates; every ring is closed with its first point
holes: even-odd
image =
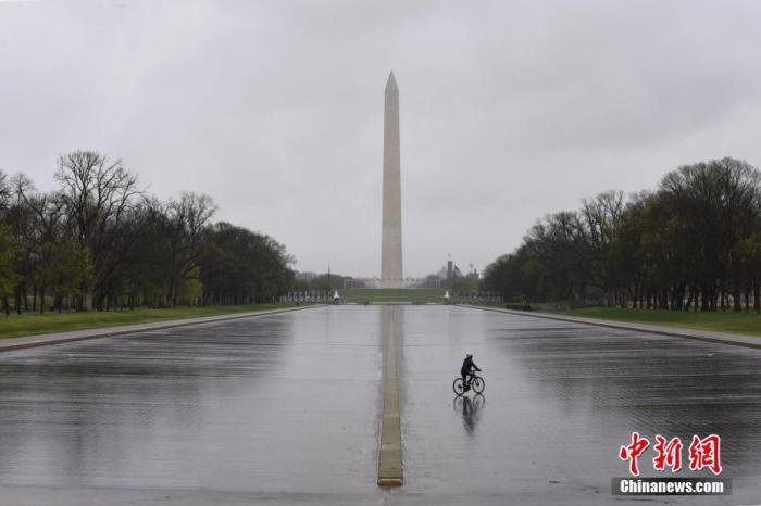
{"type": "Polygon", "coordinates": [[[559,316],[546,313],[529,313],[523,311],[501,309],[499,307],[482,307],[469,304],[457,304],[459,307],[471,309],[494,311],[496,313],[508,313],[511,315],[531,316],[533,318],[553,319],[558,321],[570,321],[573,324],[595,325],[597,327],[608,327],[611,329],[637,330],[639,332],[657,333],[673,338],[691,339],[719,344],[729,344],[733,346],[745,346],[761,349],[761,338],[746,334],[733,334],[727,332],[710,332],[706,330],[693,330],[677,327],[662,327],[658,325],[631,324],[626,321],[603,320],[597,318],[582,318],[578,316],[559,316]]]}

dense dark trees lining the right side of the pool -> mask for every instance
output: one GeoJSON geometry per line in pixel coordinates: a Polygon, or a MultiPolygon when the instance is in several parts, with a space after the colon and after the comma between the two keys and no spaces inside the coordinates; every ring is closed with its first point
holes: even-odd
{"type": "Polygon", "coordinates": [[[545,216],[483,288],[509,301],[761,311],[761,173],[734,159],[685,165],[653,191],[606,191],[545,216]]]}

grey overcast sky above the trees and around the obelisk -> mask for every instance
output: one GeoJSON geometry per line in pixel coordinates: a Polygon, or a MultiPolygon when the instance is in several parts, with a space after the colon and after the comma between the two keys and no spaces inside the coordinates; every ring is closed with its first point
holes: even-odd
{"type": "Polygon", "coordinates": [[[479,270],[547,213],[761,165],[761,2],[0,2],[0,169],[75,149],[204,192],[299,270],[380,270],[383,98],[404,275],[479,270]]]}

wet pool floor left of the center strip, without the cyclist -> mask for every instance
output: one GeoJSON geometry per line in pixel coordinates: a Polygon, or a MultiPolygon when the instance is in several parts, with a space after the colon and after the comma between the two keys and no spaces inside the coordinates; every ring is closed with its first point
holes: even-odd
{"type": "Polygon", "coordinates": [[[380,494],[379,312],[352,309],[3,353],[0,504],[380,494]]]}

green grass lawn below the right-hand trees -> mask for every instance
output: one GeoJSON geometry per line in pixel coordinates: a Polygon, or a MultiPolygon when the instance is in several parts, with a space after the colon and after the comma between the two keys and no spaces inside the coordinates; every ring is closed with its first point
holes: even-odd
{"type": "Polygon", "coordinates": [[[584,307],[579,309],[553,311],[548,313],[616,321],[683,327],[696,330],[714,330],[719,332],[761,336],[761,314],[758,313],[685,313],[657,309],[616,309],[608,307],[584,307]]]}

